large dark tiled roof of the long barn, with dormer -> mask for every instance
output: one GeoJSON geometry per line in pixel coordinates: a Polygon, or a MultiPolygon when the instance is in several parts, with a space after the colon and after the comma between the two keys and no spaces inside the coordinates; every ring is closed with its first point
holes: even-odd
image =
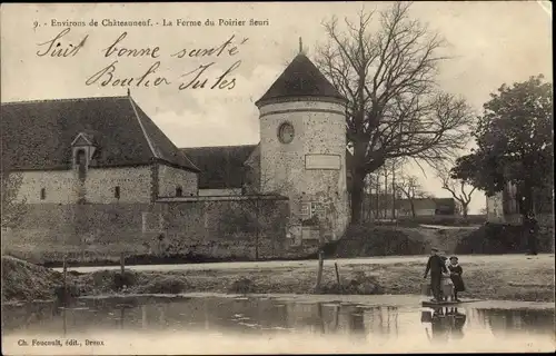
{"type": "Polygon", "coordinates": [[[91,167],[158,160],[198,171],[131,97],[7,102],[1,117],[12,169],[71,168],[71,144],[83,132],[98,145],[91,167]]]}

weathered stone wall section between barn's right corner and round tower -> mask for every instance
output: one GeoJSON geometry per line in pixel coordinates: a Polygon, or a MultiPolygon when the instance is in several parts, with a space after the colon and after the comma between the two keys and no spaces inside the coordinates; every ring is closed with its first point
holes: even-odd
{"type": "Polygon", "coordinates": [[[280,257],[288,249],[289,206],[270,197],[199,197],[160,205],[163,247],[216,258],[280,257]],[[258,251],[256,246],[258,245],[258,251]]]}

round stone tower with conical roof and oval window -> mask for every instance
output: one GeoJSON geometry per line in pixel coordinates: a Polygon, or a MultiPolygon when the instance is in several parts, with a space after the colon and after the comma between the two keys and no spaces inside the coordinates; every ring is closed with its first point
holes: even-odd
{"type": "Polygon", "coordinates": [[[260,189],[289,197],[295,239],[301,231],[306,239],[301,225],[325,210],[331,220],[328,239],[339,238],[347,226],[346,102],[302,52],[256,102],[260,189]]]}

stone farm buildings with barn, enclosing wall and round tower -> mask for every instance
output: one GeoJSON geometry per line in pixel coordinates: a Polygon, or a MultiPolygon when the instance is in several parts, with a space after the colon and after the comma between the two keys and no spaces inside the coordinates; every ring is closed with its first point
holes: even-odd
{"type": "Polygon", "coordinates": [[[277,257],[322,227],[339,238],[346,99],[299,53],[256,105],[258,145],[178,148],[129,92],[2,103],[2,165],[27,204],[3,243],[49,258],[277,257]]]}

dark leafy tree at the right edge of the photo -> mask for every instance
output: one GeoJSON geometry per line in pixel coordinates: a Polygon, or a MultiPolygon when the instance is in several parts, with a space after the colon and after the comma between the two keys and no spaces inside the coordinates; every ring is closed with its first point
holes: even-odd
{"type": "Polygon", "coordinates": [[[490,95],[475,131],[477,149],[451,169],[451,178],[469,181],[487,196],[515,185],[524,221],[533,216],[535,191],[552,195],[554,188],[553,85],[543,79],[503,85],[490,95]]]}

